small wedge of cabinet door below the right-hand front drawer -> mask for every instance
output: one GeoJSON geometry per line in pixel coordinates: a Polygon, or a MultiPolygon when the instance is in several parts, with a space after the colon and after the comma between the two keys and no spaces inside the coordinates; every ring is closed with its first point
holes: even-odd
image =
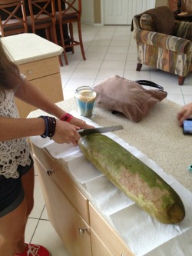
{"type": "Polygon", "coordinates": [[[92,244],[92,256],[114,256],[111,252],[106,248],[101,239],[98,238],[98,235],[94,233],[91,228],[91,244],[92,244]]]}

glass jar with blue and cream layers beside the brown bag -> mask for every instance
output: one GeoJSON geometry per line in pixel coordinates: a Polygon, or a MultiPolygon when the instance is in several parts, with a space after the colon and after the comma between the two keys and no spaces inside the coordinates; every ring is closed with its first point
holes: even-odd
{"type": "Polygon", "coordinates": [[[80,115],[91,118],[94,116],[96,92],[90,86],[81,86],[76,89],[74,98],[80,115]]]}

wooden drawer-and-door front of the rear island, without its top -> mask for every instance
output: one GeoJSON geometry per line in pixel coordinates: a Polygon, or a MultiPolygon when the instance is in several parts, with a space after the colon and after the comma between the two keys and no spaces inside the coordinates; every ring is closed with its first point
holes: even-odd
{"type": "MultiPolygon", "coordinates": [[[[56,103],[63,100],[58,56],[28,62],[18,65],[18,68],[31,81],[31,84],[48,96],[51,101],[56,103]]],[[[35,110],[35,107],[18,98],[15,99],[15,102],[21,118],[26,118],[31,111],[35,110]]]]}

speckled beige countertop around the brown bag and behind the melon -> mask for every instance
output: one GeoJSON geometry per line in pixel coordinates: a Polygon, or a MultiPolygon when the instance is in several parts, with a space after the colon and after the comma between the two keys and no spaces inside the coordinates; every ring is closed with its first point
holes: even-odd
{"type": "MultiPolygon", "coordinates": [[[[58,102],[66,111],[77,111],[74,99],[58,102]]],[[[91,120],[101,126],[123,125],[121,131],[114,131],[129,145],[134,146],[157,163],[168,175],[172,175],[185,188],[192,191],[192,174],[187,171],[192,164],[190,135],[183,135],[178,126],[177,112],[181,106],[164,99],[154,106],[153,111],[139,123],[129,121],[123,115],[112,115],[110,111],[97,107],[91,120]]],[[[37,110],[29,117],[42,114],[37,110]]]]}

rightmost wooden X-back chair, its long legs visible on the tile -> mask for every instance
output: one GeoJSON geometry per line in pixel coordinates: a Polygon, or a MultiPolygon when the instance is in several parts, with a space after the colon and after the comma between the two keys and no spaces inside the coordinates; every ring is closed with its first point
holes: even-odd
{"type": "Polygon", "coordinates": [[[58,12],[56,12],[56,24],[59,26],[61,46],[64,48],[65,64],[68,65],[68,58],[66,48],[71,48],[74,54],[74,46],[80,45],[81,54],[86,60],[84,55],[84,46],[81,35],[81,0],[58,0],[58,12]],[[73,23],[78,25],[78,41],[74,40],[73,23]],[[67,39],[70,44],[66,44],[64,38],[63,25],[68,25],[69,38],[67,39]]]}

